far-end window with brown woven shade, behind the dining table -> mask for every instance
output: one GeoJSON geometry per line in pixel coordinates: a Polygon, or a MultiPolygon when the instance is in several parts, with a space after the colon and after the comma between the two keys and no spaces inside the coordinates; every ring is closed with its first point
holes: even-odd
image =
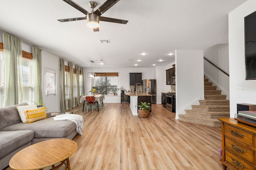
{"type": "Polygon", "coordinates": [[[118,73],[96,73],[95,86],[97,92],[105,95],[113,95],[117,88],[118,73]]]}

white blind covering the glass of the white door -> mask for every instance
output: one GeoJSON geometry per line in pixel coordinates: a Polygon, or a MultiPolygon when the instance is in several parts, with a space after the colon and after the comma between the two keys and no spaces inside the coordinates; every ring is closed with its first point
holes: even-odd
{"type": "Polygon", "coordinates": [[[45,70],[45,95],[56,94],[56,71],[46,69],[45,70]]]}

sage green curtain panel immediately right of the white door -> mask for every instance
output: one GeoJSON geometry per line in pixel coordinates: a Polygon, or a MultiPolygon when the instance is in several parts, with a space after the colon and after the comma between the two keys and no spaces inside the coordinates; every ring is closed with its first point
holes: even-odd
{"type": "Polygon", "coordinates": [[[66,111],[66,91],[65,91],[65,61],[60,59],[60,109],[62,112],[66,111]]]}

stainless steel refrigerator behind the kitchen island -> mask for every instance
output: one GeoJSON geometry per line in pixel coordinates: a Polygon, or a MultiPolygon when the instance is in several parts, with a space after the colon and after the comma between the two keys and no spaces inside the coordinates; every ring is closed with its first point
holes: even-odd
{"type": "Polygon", "coordinates": [[[146,94],[151,94],[151,103],[156,104],[156,80],[146,79],[143,80],[143,92],[146,94]]]}

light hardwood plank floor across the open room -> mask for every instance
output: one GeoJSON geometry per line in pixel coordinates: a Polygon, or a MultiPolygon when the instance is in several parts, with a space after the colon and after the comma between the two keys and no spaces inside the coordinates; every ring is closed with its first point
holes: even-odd
{"type": "Polygon", "coordinates": [[[73,140],[73,170],[222,170],[221,128],[176,120],[161,104],[149,117],[133,116],[129,104],[106,103],[82,112],[83,135],[73,140]]]}

